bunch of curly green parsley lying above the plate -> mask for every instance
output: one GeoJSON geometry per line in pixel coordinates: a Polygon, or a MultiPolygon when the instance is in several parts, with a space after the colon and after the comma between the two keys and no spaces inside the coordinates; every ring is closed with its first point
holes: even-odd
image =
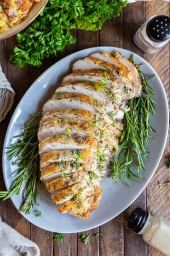
{"type": "Polygon", "coordinates": [[[36,20],[16,35],[18,46],[10,60],[21,68],[39,67],[42,60],[76,42],[71,29],[100,30],[105,20],[119,16],[126,5],[126,0],[49,0],[36,20]]]}

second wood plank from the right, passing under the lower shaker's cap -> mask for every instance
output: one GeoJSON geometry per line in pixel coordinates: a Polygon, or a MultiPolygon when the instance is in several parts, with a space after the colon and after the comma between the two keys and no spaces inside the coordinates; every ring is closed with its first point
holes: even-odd
{"type": "MultiPolygon", "coordinates": [[[[145,53],[141,51],[133,42],[135,32],[145,22],[145,3],[137,2],[129,4],[123,11],[123,47],[129,49],[138,55],[145,57],[145,53]],[[140,10],[140,11],[137,11],[140,10]]],[[[147,246],[143,242],[142,237],[128,229],[126,220],[129,214],[136,207],[146,209],[146,190],[144,190],[137,200],[130,205],[124,212],[124,255],[125,256],[145,256],[147,255],[147,246]]]]}

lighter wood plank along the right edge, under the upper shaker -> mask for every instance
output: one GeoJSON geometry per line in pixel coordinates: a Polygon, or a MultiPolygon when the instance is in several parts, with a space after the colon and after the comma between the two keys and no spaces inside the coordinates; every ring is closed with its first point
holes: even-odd
{"type": "MultiPolygon", "coordinates": [[[[146,18],[163,14],[169,16],[169,3],[164,1],[155,1],[155,3],[146,3],[146,18]]],[[[165,46],[161,51],[154,55],[147,55],[146,60],[154,67],[160,79],[163,82],[165,91],[169,101],[169,46],[165,46]]],[[[169,136],[164,150],[163,158],[160,161],[159,167],[147,186],[147,209],[152,214],[159,214],[165,218],[170,218],[170,209],[167,202],[170,200],[170,187],[165,186],[159,188],[155,186],[158,182],[166,182],[170,180],[170,174],[167,170],[167,158],[169,156],[169,136]]],[[[158,250],[148,246],[148,256],[163,256],[158,250]]]]}

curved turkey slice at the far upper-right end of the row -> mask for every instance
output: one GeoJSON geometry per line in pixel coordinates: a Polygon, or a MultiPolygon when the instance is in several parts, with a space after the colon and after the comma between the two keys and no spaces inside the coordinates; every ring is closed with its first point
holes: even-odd
{"type": "Polygon", "coordinates": [[[141,86],[141,80],[139,79],[139,75],[138,75],[138,70],[137,68],[131,63],[131,61],[129,61],[128,59],[126,59],[125,57],[123,57],[121,55],[120,52],[116,52],[114,53],[114,56],[124,65],[126,65],[126,67],[130,70],[131,72],[131,77],[133,80],[133,86],[135,88],[135,93],[134,96],[138,97],[141,95],[142,93],[142,86],[141,86]]]}

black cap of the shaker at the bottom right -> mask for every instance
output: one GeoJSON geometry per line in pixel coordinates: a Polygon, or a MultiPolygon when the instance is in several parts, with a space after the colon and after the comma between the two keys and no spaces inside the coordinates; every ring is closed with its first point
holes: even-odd
{"type": "Polygon", "coordinates": [[[148,217],[148,212],[141,208],[135,208],[128,218],[128,226],[136,233],[139,233],[145,225],[148,217]]]}

